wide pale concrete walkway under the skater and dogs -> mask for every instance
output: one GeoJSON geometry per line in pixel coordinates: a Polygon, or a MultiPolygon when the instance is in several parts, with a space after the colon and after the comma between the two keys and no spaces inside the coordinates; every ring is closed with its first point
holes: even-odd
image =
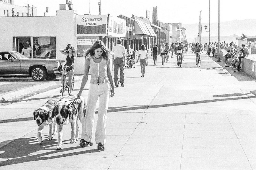
{"type": "Polygon", "coordinates": [[[204,55],[200,68],[191,53],[181,68],[176,58],[150,60],[144,78],[137,64],[115,88],[104,152],[94,137],[87,148],[70,144],[70,126],[61,150],[56,136],[47,141],[47,127],[38,144],[33,110],[59,98],[60,88],[0,106],[0,169],[256,169],[255,81],[238,81],[204,55]]]}

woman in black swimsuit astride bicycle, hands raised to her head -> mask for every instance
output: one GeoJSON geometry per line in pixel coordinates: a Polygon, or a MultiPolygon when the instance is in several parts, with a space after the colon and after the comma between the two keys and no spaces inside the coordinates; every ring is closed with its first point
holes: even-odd
{"type": "MultiPolygon", "coordinates": [[[[66,72],[69,74],[69,89],[70,92],[72,92],[72,77],[74,75],[74,61],[77,57],[77,50],[74,49],[74,47],[71,44],[68,44],[67,47],[63,50],[60,50],[62,54],[65,54],[67,56],[66,58],[66,65],[67,69],[66,72]]],[[[62,70],[61,75],[61,87],[63,86],[63,77],[64,77],[64,69],[62,70]]],[[[62,93],[62,89],[59,91],[59,93],[62,93]]]]}

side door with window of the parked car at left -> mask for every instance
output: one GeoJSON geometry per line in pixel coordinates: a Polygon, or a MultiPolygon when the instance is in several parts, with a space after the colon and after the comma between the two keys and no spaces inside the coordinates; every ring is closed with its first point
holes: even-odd
{"type": "Polygon", "coordinates": [[[8,52],[0,53],[0,75],[20,75],[20,61],[8,52]],[[13,60],[8,58],[12,57],[13,60]]]}

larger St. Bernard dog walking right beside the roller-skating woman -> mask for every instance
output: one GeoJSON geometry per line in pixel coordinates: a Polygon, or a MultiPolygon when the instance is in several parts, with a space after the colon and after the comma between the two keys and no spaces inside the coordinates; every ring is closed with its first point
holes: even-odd
{"type": "Polygon", "coordinates": [[[86,114],[86,102],[84,98],[76,99],[76,96],[63,96],[60,98],[57,105],[53,108],[51,117],[56,118],[58,144],[56,149],[61,149],[63,125],[71,123],[71,141],[75,143],[79,136],[78,121],[82,122],[86,114]],[[72,106],[71,106],[72,105],[72,106]],[[69,108],[68,108],[69,107],[69,108]],[[78,117],[78,119],[77,119],[78,117]]]}

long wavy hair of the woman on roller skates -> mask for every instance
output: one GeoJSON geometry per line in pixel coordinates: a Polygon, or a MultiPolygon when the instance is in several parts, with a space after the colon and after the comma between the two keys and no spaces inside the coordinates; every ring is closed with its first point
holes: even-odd
{"type": "Polygon", "coordinates": [[[105,60],[108,60],[108,58],[110,57],[110,50],[104,45],[104,43],[101,40],[97,40],[95,41],[95,43],[92,45],[92,47],[90,47],[88,50],[86,50],[86,52],[84,53],[84,57],[85,59],[90,55],[93,56],[94,55],[94,50],[101,48],[103,53],[101,54],[102,57],[105,60]]]}

